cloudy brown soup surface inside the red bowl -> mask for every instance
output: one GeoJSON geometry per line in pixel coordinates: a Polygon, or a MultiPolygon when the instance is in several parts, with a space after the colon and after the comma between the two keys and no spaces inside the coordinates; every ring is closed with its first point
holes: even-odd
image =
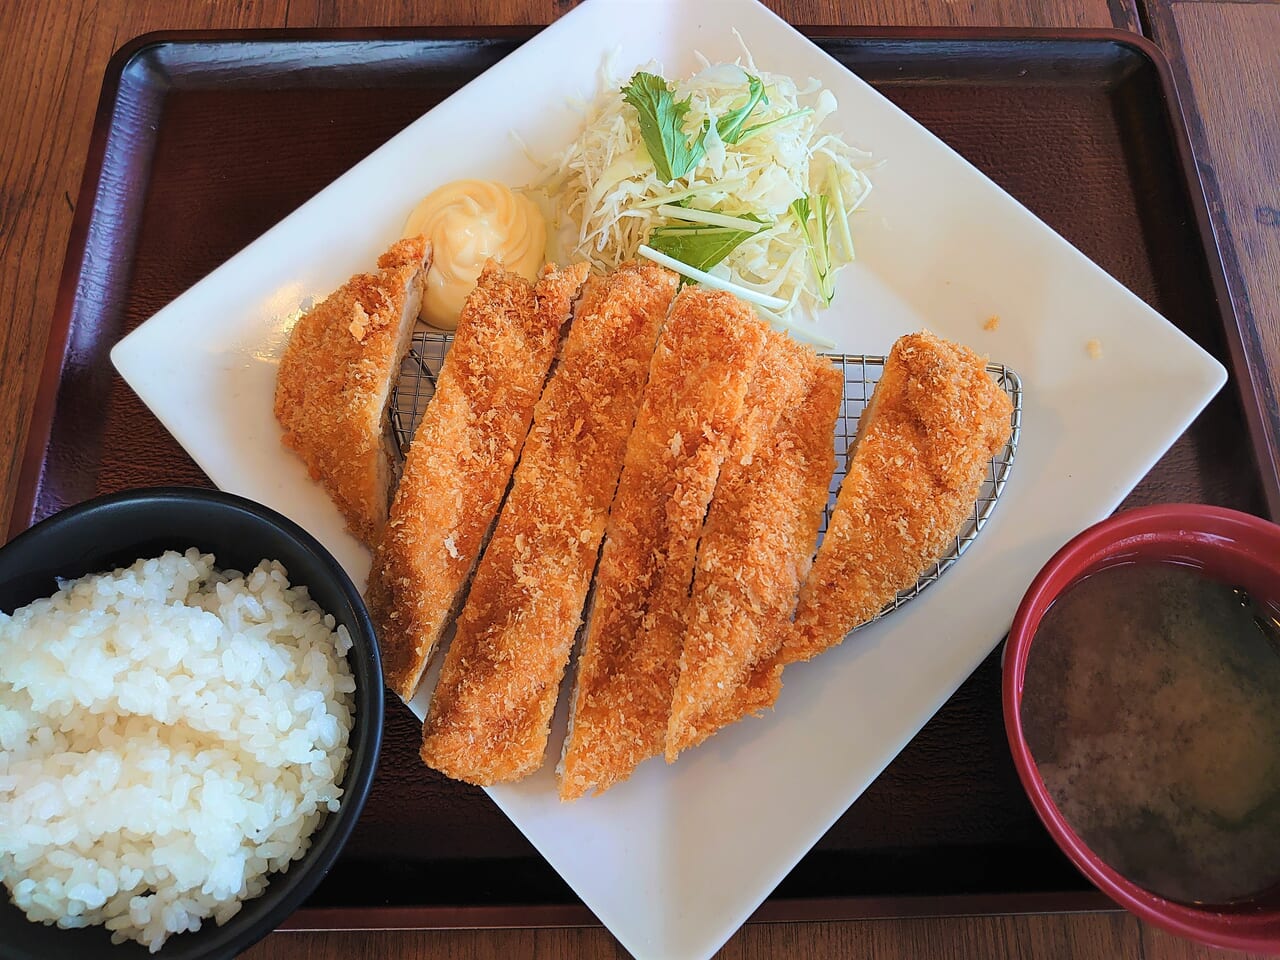
{"type": "Polygon", "coordinates": [[[1114,869],[1226,904],[1280,881],[1280,630],[1201,571],[1135,563],[1069,588],[1021,705],[1050,795],[1114,869]]]}

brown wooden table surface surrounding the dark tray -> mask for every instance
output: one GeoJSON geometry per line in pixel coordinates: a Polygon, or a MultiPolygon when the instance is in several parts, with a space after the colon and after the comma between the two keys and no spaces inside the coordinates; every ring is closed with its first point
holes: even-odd
{"type": "MultiPolygon", "coordinates": [[[[1192,129],[1247,375],[1270,397],[1280,456],[1280,3],[1256,0],[768,0],[796,24],[1119,27],[1169,55],[1192,129]]],[[[4,0],[0,3],[0,530],[45,351],[102,70],[155,29],[541,24],[573,0],[4,0]]],[[[614,957],[599,928],[275,933],[252,960],[614,957]]],[[[1243,956],[1193,946],[1121,913],[749,924],[722,957],[1243,956]]]]}

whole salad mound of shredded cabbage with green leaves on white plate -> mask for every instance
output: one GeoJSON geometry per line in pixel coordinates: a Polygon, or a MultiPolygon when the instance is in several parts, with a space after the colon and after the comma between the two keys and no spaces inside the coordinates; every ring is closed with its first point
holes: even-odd
{"type": "Polygon", "coordinates": [[[823,340],[806,319],[854,259],[850,219],[870,192],[870,155],[822,129],[836,97],[749,55],[675,84],[605,74],[579,138],[529,187],[559,257],[612,270],[646,256],[823,340]]]}

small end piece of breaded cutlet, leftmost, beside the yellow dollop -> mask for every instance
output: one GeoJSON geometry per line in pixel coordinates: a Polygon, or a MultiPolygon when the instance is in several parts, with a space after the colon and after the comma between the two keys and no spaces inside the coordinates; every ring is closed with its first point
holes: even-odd
{"type": "Polygon", "coordinates": [[[275,419],[372,547],[387,522],[396,470],[387,407],[422,301],[430,244],[402,239],[293,326],[275,380],[275,419]]]}

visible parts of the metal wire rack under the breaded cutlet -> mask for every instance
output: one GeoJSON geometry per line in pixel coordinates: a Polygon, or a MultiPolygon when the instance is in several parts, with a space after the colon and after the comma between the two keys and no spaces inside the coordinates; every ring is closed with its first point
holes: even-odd
{"type": "MultiPolygon", "coordinates": [[[[401,453],[408,451],[417,420],[426,410],[428,401],[435,393],[435,378],[444,365],[444,356],[449,351],[453,335],[430,330],[419,330],[413,334],[408,355],[401,366],[401,376],[392,392],[392,429],[396,440],[399,443],[401,453]]],[[[836,504],[836,494],[840,484],[845,479],[845,462],[849,447],[858,435],[858,421],[867,408],[872,390],[879,383],[884,371],[884,357],[869,357],[858,353],[829,353],[831,362],[840,366],[845,376],[845,401],[841,404],[840,416],[836,420],[836,472],[831,479],[831,494],[827,500],[827,509],[822,518],[822,531],[827,530],[827,520],[831,509],[836,504]]],[[[1011,413],[1012,428],[1009,443],[997,453],[987,467],[987,479],[982,484],[978,499],[973,506],[973,516],[965,521],[964,527],[956,536],[951,548],[933,564],[914,586],[902,590],[883,611],[877,614],[877,620],[886,613],[897,609],[904,603],[916,596],[929,584],[937,581],[947,567],[955,563],[969,545],[978,539],[978,532],[987,524],[1000,494],[1004,493],[1009,481],[1009,472],[1014,466],[1014,454],[1018,452],[1018,438],[1023,426],[1023,381],[1018,374],[1004,364],[988,364],[987,370],[996,378],[997,383],[1012,401],[1011,413]]],[[[819,534],[818,541],[822,543],[819,534]]]]}

